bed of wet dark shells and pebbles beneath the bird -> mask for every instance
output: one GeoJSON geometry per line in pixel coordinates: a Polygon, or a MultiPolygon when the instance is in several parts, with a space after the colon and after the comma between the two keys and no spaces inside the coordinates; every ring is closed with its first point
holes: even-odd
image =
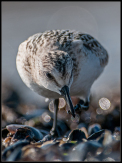
{"type": "Polygon", "coordinates": [[[2,129],[2,161],[120,161],[120,107],[116,100],[115,104],[111,100],[108,112],[98,113],[97,105],[90,106],[87,112],[79,113],[79,123],[64,110],[65,101],[60,102],[57,137],[46,142],[42,139],[53,125],[48,108],[18,103],[19,114],[12,105],[3,104],[2,126],[7,126],[2,129]]]}

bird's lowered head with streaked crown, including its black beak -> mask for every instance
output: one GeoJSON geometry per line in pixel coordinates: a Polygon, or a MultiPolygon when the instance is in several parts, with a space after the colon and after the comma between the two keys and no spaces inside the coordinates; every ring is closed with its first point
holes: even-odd
{"type": "MultiPolygon", "coordinates": [[[[73,62],[68,53],[53,51],[41,56],[38,76],[41,85],[64,96],[73,110],[69,95],[70,86],[73,82],[73,62]]],[[[72,112],[74,116],[74,110],[72,112]]]]}

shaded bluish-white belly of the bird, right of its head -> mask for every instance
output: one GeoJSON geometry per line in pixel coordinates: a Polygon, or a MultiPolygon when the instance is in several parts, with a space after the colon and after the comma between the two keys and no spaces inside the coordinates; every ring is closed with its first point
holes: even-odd
{"type": "Polygon", "coordinates": [[[82,67],[78,76],[74,76],[74,81],[71,85],[71,96],[87,97],[94,81],[99,77],[103,69],[96,67],[82,67]]]}

